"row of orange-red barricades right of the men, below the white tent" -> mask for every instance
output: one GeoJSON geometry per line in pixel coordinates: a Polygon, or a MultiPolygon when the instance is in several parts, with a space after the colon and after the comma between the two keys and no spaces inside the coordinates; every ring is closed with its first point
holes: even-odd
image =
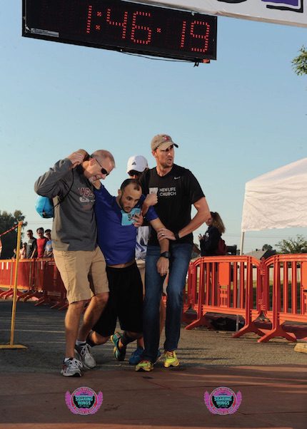
{"type": "Polygon", "coordinates": [[[258,342],[307,338],[307,255],[196,259],[188,269],[185,321],[188,309],[196,311],[196,320],[186,329],[211,327],[209,314],[231,314],[245,320],[233,337],[254,332],[258,342]]]}

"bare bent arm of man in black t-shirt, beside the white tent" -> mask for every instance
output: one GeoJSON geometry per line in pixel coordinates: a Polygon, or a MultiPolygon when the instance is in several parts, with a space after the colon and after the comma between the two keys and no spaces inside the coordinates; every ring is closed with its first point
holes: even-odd
{"type": "Polygon", "coordinates": [[[186,235],[195,231],[195,229],[200,227],[204,222],[206,222],[206,220],[209,219],[209,217],[211,217],[210,210],[205,197],[202,197],[200,200],[194,202],[193,205],[196,208],[197,213],[185,227],[183,227],[180,231],[170,231],[169,229],[166,229],[164,227],[158,229],[158,239],[160,240],[163,238],[168,238],[171,240],[176,240],[178,238],[185,237],[186,235]]]}

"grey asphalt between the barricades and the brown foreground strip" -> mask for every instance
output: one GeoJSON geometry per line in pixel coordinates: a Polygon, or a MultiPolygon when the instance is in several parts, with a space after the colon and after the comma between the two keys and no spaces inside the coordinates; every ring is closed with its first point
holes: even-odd
{"type": "MultiPolygon", "coordinates": [[[[9,343],[11,306],[11,301],[0,301],[0,344],[9,343]]],[[[14,344],[23,344],[27,348],[0,349],[1,371],[59,372],[65,346],[64,316],[65,311],[50,309],[49,306],[18,302],[14,344]]],[[[177,353],[181,367],[304,365],[307,362],[306,353],[293,351],[294,344],[282,338],[257,343],[258,337],[254,334],[246,334],[241,338],[232,338],[231,335],[231,332],[210,331],[206,328],[186,331],[182,327],[177,353]]],[[[134,345],[129,345],[129,353],[133,350],[134,345]]],[[[93,353],[98,364],[97,370],[131,367],[126,361],[115,361],[111,342],[93,348],[93,353]]],[[[161,363],[156,365],[161,366],[161,363]]],[[[131,367],[131,371],[133,369],[131,367]]]]}

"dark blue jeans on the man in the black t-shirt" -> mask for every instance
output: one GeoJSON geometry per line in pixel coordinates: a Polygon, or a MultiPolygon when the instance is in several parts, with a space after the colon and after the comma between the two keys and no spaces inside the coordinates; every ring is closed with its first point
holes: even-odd
{"type": "MultiPolygon", "coordinates": [[[[178,347],[181,328],[183,288],[191,259],[192,244],[170,243],[169,277],[166,301],[164,350],[178,347]]],[[[145,299],[143,307],[144,360],[155,362],[160,340],[160,301],[165,276],[158,274],[156,263],[160,257],[159,246],[147,247],[145,272],[145,299]]]]}

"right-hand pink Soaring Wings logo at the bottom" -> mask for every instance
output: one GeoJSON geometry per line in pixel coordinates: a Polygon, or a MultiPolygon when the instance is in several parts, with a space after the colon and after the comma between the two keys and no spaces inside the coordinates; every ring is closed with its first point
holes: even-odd
{"type": "Polygon", "coordinates": [[[233,414],[241,405],[242,395],[240,391],[236,394],[228,387],[218,387],[211,393],[206,391],[203,400],[212,414],[233,414]]]}

